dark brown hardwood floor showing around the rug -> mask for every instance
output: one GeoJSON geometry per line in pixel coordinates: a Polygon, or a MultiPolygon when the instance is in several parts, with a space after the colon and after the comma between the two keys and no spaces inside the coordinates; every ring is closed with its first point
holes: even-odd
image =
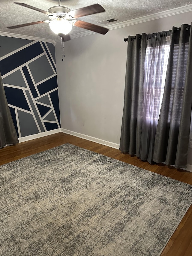
{"type": "MultiPolygon", "coordinates": [[[[73,145],[118,159],[128,164],[141,167],[143,169],[177,179],[179,181],[192,185],[192,173],[177,170],[174,167],[167,167],[164,164],[149,164],[140,161],[137,157],[123,154],[118,149],[113,149],[95,142],[84,140],[72,135],[57,133],[46,137],[29,140],[13,146],[0,149],[0,165],[6,164],[19,158],[32,155],[64,143],[73,145]]],[[[0,167],[1,168],[1,167],[0,167]]],[[[179,224],[173,236],[167,243],[161,256],[191,256],[192,255],[192,206],[188,209],[181,223],[179,224]]]]}

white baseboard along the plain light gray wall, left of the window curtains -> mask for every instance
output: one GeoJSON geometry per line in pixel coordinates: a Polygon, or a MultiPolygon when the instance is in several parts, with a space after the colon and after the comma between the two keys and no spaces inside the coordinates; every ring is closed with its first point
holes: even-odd
{"type": "Polygon", "coordinates": [[[98,138],[95,138],[95,137],[92,137],[92,136],[89,136],[89,135],[81,134],[81,133],[78,133],[78,132],[75,132],[75,131],[69,131],[69,130],[63,129],[63,128],[61,128],[61,132],[79,137],[81,139],[90,140],[90,141],[93,141],[93,142],[96,142],[96,143],[99,143],[99,144],[102,144],[102,145],[105,145],[105,146],[109,146],[109,147],[114,148],[114,149],[119,149],[119,144],[113,143],[113,142],[110,142],[110,141],[107,141],[107,140],[101,140],[101,139],[98,139],[98,138]]]}

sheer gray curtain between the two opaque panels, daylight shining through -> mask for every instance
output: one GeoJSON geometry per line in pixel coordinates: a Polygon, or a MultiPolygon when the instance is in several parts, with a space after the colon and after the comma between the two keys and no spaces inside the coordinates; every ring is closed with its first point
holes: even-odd
{"type": "Polygon", "coordinates": [[[146,41],[143,83],[143,125],[140,159],[152,163],[153,145],[164,92],[170,31],[142,35],[146,41]]]}

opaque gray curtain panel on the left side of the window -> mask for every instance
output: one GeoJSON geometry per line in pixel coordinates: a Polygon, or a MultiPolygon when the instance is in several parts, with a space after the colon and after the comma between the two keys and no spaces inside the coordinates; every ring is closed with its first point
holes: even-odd
{"type": "MultiPolygon", "coordinates": [[[[145,48],[142,47],[142,49],[145,48]]],[[[142,56],[145,56],[142,49],[141,35],[128,36],[120,150],[124,153],[129,152],[131,155],[136,152],[140,155],[140,136],[143,122],[143,97],[141,95],[143,94],[144,58],[142,56]],[[137,120],[139,120],[140,125],[137,125],[137,120]]]]}

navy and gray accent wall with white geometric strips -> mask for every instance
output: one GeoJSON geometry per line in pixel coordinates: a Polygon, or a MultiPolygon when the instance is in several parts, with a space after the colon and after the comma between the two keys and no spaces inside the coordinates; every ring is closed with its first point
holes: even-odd
{"type": "Polygon", "coordinates": [[[53,44],[0,36],[0,45],[0,71],[18,137],[60,128],[53,44]]]}

